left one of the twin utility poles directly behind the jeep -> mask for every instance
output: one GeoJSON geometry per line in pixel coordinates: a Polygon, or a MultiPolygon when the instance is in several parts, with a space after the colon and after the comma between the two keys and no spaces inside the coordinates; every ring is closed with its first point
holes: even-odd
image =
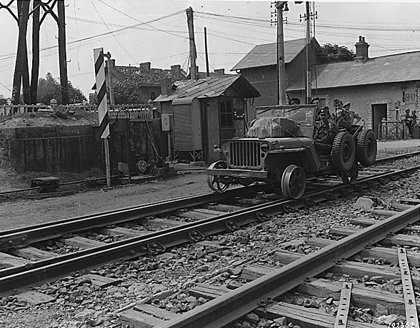
{"type": "Polygon", "coordinates": [[[279,81],[279,105],[286,105],[286,67],[284,62],[283,10],[288,11],[287,1],[276,1],[277,9],[277,79],[279,81]]]}

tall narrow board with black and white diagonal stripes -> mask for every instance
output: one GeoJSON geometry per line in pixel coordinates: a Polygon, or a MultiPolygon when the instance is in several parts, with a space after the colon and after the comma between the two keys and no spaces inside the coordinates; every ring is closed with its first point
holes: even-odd
{"type": "Polygon", "coordinates": [[[109,108],[106,101],[104,48],[94,49],[96,90],[98,91],[99,130],[101,138],[109,138],[109,108]]]}

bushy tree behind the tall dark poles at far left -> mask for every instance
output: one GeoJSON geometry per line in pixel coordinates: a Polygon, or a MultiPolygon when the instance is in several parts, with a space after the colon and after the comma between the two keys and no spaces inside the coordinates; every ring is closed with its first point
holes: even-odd
{"type": "MultiPolygon", "coordinates": [[[[68,82],[69,103],[82,103],[86,101],[86,97],[79,88],[74,88],[71,82],[68,82]]],[[[38,93],[36,101],[49,105],[51,99],[56,99],[61,104],[61,85],[51,73],[46,73],[46,78],[40,78],[38,81],[38,93]]]]}

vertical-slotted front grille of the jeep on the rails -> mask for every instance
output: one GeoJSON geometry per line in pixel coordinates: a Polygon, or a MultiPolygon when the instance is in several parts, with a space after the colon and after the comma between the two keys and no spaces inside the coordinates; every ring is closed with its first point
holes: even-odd
{"type": "Polygon", "coordinates": [[[261,142],[255,140],[229,141],[229,168],[260,169],[264,165],[261,158],[261,142]]]}

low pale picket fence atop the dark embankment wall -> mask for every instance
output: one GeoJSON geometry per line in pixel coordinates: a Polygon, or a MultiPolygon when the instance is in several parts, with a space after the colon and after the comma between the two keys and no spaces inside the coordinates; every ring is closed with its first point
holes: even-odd
{"type": "MultiPolygon", "coordinates": [[[[60,111],[91,111],[98,112],[98,106],[93,104],[73,105],[0,105],[0,116],[14,116],[21,113],[49,112],[59,109],[60,111]]],[[[154,110],[148,104],[115,105],[109,110],[109,117],[130,118],[131,121],[145,121],[154,118],[154,110]]]]}

